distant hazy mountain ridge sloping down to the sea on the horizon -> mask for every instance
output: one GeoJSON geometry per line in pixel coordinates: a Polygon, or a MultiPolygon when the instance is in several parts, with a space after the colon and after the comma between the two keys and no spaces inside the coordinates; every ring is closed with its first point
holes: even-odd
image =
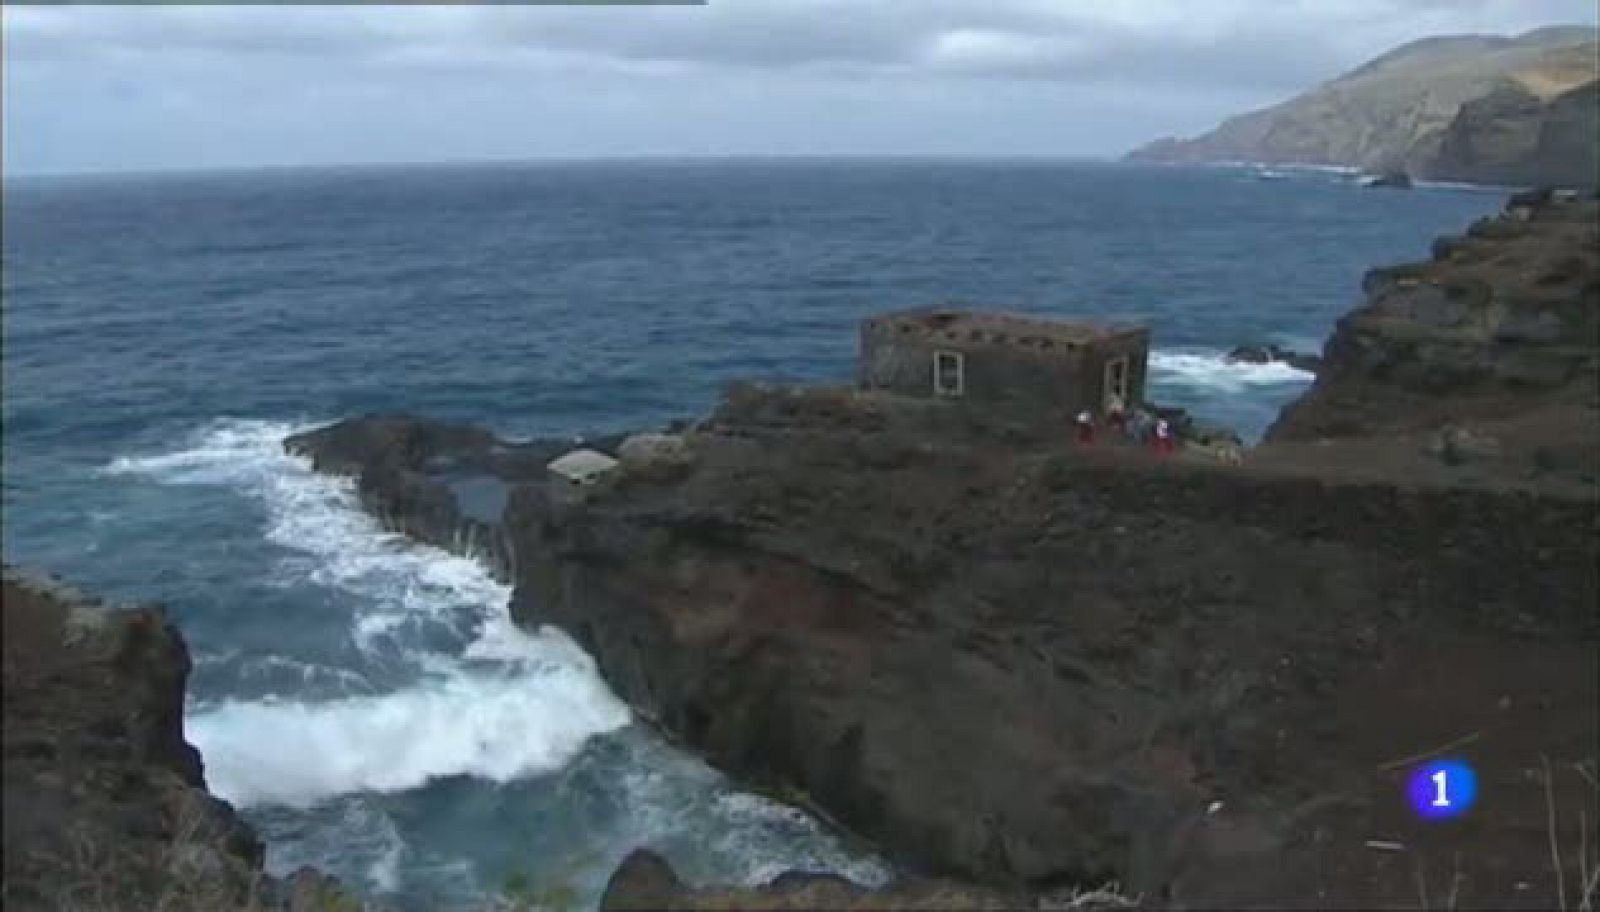
{"type": "Polygon", "coordinates": [[[1232,117],[1194,139],[1158,139],[1128,158],[1594,186],[1597,38],[1582,26],[1421,38],[1290,101],[1232,117]]]}

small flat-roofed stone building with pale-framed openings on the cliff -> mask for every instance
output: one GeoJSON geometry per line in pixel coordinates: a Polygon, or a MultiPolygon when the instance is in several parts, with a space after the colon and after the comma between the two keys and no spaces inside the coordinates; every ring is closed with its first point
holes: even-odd
{"type": "Polygon", "coordinates": [[[861,323],[861,386],[1027,416],[1144,402],[1150,331],[926,307],[861,323]]]}

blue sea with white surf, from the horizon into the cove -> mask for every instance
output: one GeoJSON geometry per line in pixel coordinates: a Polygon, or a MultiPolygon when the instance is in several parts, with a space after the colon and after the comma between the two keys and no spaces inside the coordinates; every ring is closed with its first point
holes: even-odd
{"type": "MultiPolygon", "coordinates": [[[[693,880],[888,870],[630,722],[469,560],[384,534],[291,430],[411,410],[506,435],[848,379],[936,301],[1146,320],[1152,395],[1259,435],[1371,266],[1501,203],[1328,173],[682,162],[5,181],[5,557],[165,603],[189,736],[269,840],[403,907],[517,878],[592,904],[654,845],[693,880]]],[[[550,894],[546,894],[549,899],[550,894]]]]}

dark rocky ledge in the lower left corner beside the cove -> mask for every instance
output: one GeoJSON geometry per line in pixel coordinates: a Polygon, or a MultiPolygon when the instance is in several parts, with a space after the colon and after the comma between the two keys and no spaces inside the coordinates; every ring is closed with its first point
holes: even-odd
{"type": "Polygon", "coordinates": [[[157,608],[5,570],[5,907],[358,910],[262,846],[184,741],[189,653],[157,608]]]}

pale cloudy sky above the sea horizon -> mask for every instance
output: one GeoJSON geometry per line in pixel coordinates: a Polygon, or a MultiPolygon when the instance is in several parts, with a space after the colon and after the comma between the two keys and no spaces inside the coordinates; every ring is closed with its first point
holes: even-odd
{"type": "Polygon", "coordinates": [[[6,174],[646,155],[1114,157],[1594,0],[16,6],[6,174]]]}

